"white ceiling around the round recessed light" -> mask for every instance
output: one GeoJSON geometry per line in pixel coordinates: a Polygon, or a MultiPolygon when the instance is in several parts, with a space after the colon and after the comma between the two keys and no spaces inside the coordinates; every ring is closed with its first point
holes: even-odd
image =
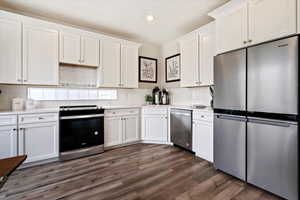
{"type": "Polygon", "coordinates": [[[161,45],[212,18],[229,0],[0,0],[0,6],[110,35],[161,45]],[[154,21],[145,20],[152,14],[154,21]]]}

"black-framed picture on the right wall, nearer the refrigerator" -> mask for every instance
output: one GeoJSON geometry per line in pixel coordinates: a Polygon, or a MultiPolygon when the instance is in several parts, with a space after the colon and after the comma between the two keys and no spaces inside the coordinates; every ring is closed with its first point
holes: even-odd
{"type": "Polygon", "coordinates": [[[180,54],[166,58],[166,82],[180,81],[180,54]]]}

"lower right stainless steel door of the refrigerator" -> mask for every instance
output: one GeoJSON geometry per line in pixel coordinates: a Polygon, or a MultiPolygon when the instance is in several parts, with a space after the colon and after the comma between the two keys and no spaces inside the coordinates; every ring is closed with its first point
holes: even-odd
{"type": "Polygon", "coordinates": [[[297,124],[252,118],[247,129],[248,182],[286,199],[298,199],[297,124]]]}

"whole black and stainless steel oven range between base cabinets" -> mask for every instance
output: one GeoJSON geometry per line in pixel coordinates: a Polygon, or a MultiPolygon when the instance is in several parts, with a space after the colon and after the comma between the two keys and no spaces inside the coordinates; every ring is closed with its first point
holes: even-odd
{"type": "Polygon", "coordinates": [[[60,107],[60,159],[70,160],[104,151],[104,109],[60,107]]]}

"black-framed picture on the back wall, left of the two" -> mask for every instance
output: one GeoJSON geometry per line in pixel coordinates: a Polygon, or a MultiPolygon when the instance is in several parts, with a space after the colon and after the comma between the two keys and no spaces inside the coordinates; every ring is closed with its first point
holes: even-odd
{"type": "Polygon", "coordinates": [[[157,83],[157,59],[139,57],[139,82],[157,83]]]}

